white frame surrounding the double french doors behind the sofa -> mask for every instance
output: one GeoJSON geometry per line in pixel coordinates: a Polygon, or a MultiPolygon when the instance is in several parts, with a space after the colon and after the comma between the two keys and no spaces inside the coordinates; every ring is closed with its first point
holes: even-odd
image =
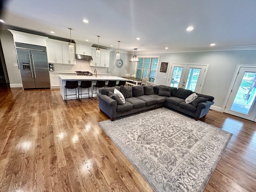
{"type": "Polygon", "coordinates": [[[202,66],[205,66],[205,72],[204,72],[203,77],[202,77],[202,83],[201,83],[201,86],[200,86],[200,88],[199,88],[199,90],[198,90],[198,93],[201,93],[202,88],[203,88],[203,86],[204,86],[204,80],[205,80],[205,78],[206,78],[206,74],[207,74],[207,71],[208,71],[209,63],[171,62],[171,67],[170,67],[170,70],[169,70],[169,72],[168,72],[168,80],[167,80],[166,86],[169,86],[169,85],[170,85],[170,82],[171,82],[171,79],[172,79],[172,77],[171,77],[171,75],[172,75],[171,72],[172,72],[172,68],[173,68],[174,64],[177,64],[177,65],[184,65],[184,66],[185,66],[185,65],[202,65],[202,66]]]}

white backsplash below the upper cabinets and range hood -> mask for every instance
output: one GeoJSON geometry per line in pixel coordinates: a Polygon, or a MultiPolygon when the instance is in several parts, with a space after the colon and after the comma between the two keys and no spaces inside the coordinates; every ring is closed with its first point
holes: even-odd
{"type": "Polygon", "coordinates": [[[90,66],[90,61],[87,61],[87,60],[76,59],[76,64],[75,65],[54,63],[54,71],[68,71],[68,72],[89,71],[89,72],[94,72],[95,68],[96,68],[98,73],[99,72],[101,72],[101,73],[107,73],[108,72],[108,68],[106,68],[106,67],[90,66]]]}

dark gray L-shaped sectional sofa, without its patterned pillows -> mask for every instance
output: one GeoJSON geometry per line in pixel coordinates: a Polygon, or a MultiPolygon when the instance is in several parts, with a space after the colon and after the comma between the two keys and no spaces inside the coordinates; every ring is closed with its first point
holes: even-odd
{"type": "Polygon", "coordinates": [[[206,116],[210,106],[214,104],[214,97],[199,93],[196,93],[198,96],[196,100],[186,104],[186,98],[194,92],[183,88],[177,89],[164,85],[120,86],[115,88],[102,88],[98,93],[100,111],[107,114],[111,121],[121,116],[163,106],[198,120],[206,116]],[[122,102],[120,104],[120,100],[115,97],[111,98],[110,95],[113,94],[115,88],[123,94],[124,104],[122,102]]]}

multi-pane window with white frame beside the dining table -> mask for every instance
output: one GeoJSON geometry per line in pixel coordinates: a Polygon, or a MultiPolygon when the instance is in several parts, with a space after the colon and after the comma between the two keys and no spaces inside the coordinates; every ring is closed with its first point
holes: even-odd
{"type": "Polygon", "coordinates": [[[148,82],[155,82],[158,58],[138,58],[136,77],[148,77],[148,82]]]}

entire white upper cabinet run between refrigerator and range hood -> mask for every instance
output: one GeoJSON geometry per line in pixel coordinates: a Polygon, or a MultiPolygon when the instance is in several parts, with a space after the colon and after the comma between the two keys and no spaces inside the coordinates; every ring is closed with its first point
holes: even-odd
{"type": "Polygon", "coordinates": [[[52,40],[46,41],[47,58],[49,63],[76,64],[75,53],[70,53],[68,42],[52,40]]]}

